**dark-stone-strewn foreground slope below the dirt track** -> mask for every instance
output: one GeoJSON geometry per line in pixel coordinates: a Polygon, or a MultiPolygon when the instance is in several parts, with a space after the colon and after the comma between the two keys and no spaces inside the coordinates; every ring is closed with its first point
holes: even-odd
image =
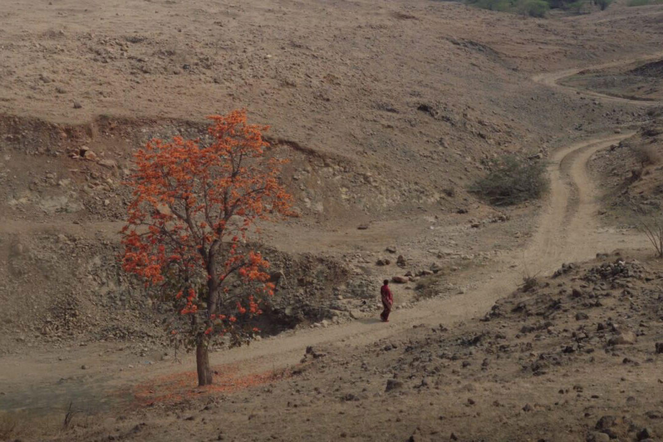
{"type": "Polygon", "coordinates": [[[663,267],[646,256],[564,264],[471,321],[309,348],[237,392],[152,392],[56,440],[659,440],[663,267]]]}

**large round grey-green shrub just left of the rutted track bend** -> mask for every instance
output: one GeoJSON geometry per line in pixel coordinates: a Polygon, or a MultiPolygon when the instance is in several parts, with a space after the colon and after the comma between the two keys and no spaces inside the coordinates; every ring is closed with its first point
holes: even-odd
{"type": "Polygon", "coordinates": [[[548,190],[546,164],[516,155],[503,156],[493,160],[491,171],[469,190],[493,205],[538,199],[548,190]]]}

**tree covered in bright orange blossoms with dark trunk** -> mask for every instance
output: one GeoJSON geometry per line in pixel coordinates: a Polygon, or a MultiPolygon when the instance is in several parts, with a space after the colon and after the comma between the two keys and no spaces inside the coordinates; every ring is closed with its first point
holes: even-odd
{"type": "Polygon", "coordinates": [[[209,350],[219,337],[239,345],[257,329],[251,318],[274,285],[269,262],[251,250],[259,219],[288,215],[262,132],[245,111],[209,117],[211,142],[153,139],[135,154],[133,201],[122,230],[125,271],[143,278],[176,315],[172,339],[196,349],[198,384],[212,382],[209,350]]]}

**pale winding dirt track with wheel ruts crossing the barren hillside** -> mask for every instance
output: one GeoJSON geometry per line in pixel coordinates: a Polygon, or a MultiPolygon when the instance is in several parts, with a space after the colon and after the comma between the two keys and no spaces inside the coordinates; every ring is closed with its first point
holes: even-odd
{"type": "MultiPolygon", "coordinates": [[[[534,80],[544,85],[562,87],[556,83],[557,80],[570,73],[573,72],[542,74],[534,80]]],[[[590,95],[610,101],[644,104],[641,101],[594,93],[590,95]]],[[[597,150],[630,136],[631,133],[624,133],[591,138],[555,152],[549,166],[550,194],[538,217],[538,228],[534,237],[526,249],[501,256],[489,269],[488,274],[475,275],[476,280],[472,281],[475,289],[448,299],[435,298],[420,302],[410,309],[396,310],[389,324],[380,323],[376,314],[375,318],[360,319],[328,328],[288,331],[257,341],[250,347],[215,353],[212,357],[213,364],[242,362],[237,365],[244,367],[245,373],[263,372],[295,364],[309,345],[364,345],[397,335],[414,324],[452,325],[455,321],[483,315],[495,300],[514,290],[525,274],[550,274],[563,262],[586,260],[593,258],[597,252],[619,247],[646,247],[646,239],[640,236],[627,236],[599,229],[595,219],[597,192],[587,174],[587,162],[597,150]]],[[[103,397],[107,396],[104,392],[135,385],[155,376],[194,368],[193,359],[186,359],[184,362],[183,365],[158,364],[141,372],[123,372],[112,379],[99,377],[95,379],[95,388],[103,397]]],[[[21,386],[7,386],[7,390],[21,391],[21,386]]],[[[53,404],[56,402],[52,398],[46,399],[46,402],[51,401],[53,404]]]]}

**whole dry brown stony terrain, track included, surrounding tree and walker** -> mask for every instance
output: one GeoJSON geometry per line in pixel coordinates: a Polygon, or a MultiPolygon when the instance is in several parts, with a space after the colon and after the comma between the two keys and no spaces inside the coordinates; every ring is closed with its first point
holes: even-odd
{"type": "MultiPolygon", "coordinates": [[[[636,168],[629,143],[660,150],[660,97],[568,80],[660,60],[662,18],[431,1],[0,5],[0,437],[662,437],[648,393],[661,388],[663,269],[605,192],[636,168]],[[215,353],[217,385],[195,390],[160,306],[117,265],[121,181],[148,138],[197,137],[205,115],[236,107],[272,126],[302,217],[258,240],[284,274],[263,339],[215,353]],[[549,160],[546,199],[497,210],[467,193],[514,151],[549,160]],[[408,272],[378,323],[379,281],[408,272]],[[524,276],[536,283],[514,292],[524,276]]],[[[655,200],[658,167],[627,192],[655,200]]]]}

